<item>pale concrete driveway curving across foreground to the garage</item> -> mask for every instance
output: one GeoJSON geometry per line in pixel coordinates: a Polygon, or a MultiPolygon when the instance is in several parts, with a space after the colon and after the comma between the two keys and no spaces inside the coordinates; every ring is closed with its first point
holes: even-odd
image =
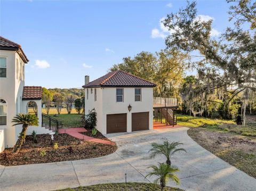
{"type": "MultiPolygon", "coordinates": [[[[149,159],[150,143],[164,140],[184,143],[187,153],[179,153],[172,164],[185,190],[255,190],[256,179],[222,161],[199,146],[187,135],[187,128],[141,131],[132,134],[108,136],[118,145],[118,150],[97,159],[55,162],[46,164],[0,166],[0,190],[54,190],[106,182],[153,182],[145,178],[147,167],[164,162],[164,157],[149,159]]],[[[170,182],[169,186],[176,186],[170,182]]]]}

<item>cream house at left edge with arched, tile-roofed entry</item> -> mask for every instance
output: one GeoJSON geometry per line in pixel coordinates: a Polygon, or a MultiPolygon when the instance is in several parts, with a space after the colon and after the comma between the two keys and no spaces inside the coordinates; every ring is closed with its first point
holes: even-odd
{"type": "Polygon", "coordinates": [[[29,127],[27,134],[52,132],[41,126],[42,87],[25,86],[28,61],[19,44],[0,37],[0,152],[16,143],[21,126],[13,127],[11,121],[18,113],[28,113],[30,105],[34,105],[39,127],[29,127]]]}

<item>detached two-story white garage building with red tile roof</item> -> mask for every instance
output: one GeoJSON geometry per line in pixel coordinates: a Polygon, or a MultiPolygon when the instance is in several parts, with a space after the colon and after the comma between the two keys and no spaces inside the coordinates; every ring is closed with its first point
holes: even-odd
{"type": "Polygon", "coordinates": [[[153,129],[155,86],[121,70],[91,82],[85,76],[85,114],[95,109],[102,134],[153,129]]]}

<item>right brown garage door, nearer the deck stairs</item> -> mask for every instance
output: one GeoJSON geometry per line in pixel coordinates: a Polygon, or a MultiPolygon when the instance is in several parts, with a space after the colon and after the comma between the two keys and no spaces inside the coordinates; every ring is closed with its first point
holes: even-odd
{"type": "Polygon", "coordinates": [[[132,131],[147,130],[149,112],[132,113],[132,131]]]}

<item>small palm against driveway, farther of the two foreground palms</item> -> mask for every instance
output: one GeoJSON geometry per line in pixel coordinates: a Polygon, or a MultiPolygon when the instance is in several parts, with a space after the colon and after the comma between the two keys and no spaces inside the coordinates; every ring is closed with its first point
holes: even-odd
{"type": "Polygon", "coordinates": [[[165,141],[163,144],[157,144],[152,143],[152,148],[149,150],[149,152],[152,152],[150,154],[150,158],[154,158],[157,155],[164,155],[166,157],[166,164],[171,165],[171,156],[180,151],[187,152],[184,148],[177,148],[177,146],[182,145],[182,143],[179,142],[168,142],[165,141]]]}

